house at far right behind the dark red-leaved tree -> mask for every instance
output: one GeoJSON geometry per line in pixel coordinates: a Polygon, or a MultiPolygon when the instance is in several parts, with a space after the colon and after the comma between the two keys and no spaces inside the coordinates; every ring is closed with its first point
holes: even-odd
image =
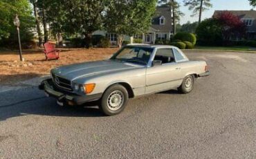
{"type": "Polygon", "coordinates": [[[215,10],[213,17],[224,11],[237,15],[246,24],[248,39],[256,39],[256,10],[215,10]]]}

